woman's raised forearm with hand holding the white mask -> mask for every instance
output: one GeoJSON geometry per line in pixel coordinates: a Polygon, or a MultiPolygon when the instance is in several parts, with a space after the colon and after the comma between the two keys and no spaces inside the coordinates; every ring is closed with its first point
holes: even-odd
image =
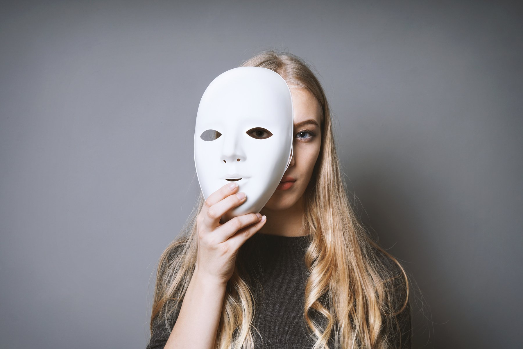
{"type": "MultiPolygon", "coordinates": [[[[265,216],[246,213],[221,223],[221,217],[243,204],[245,193],[237,184],[224,185],[209,195],[196,218],[198,252],[195,270],[181,302],[174,327],[164,349],[214,349],[220,323],[226,285],[233,275],[236,254],[243,243],[264,226],[265,216]],[[233,187],[231,187],[231,185],[233,187]]],[[[147,349],[162,348],[165,326],[155,321],[147,349]]]]}

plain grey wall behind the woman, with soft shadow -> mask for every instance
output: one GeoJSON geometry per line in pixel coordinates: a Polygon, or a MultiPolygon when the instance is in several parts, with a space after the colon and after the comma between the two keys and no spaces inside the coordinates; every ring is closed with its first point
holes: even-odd
{"type": "Polygon", "coordinates": [[[0,346],[145,347],[199,99],[271,47],[320,73],[361,219],[421,291],[415,347],[519,346],[514,4],[3,2],[0,346]]]}

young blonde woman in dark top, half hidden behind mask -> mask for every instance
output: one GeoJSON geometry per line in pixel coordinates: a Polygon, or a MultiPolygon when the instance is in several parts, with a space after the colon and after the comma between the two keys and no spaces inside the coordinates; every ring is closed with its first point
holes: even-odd
{"type": "Polygon", "coordinates": [[[407,276],[350,206],[321,84],[287,52],[242,66],[289,85],[291,163],[261,215],[222,223],[237,186],[200,193],[160,258],[147,349],[410,348],[407,276]]]}

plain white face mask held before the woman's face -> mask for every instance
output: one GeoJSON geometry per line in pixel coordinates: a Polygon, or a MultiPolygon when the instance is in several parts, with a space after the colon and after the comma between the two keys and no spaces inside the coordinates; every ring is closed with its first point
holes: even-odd
{"type": "Polygon", "coordinates": [[[293,127],[291,92],[278,73],[243,66],[209,84],[198,106],[194,139],[202,194],[207,199],[225,184],[237,183],[237,193],[247,196],[222,216],[225,220],[257,213],[267,204],[289,167],[293,127]]]}

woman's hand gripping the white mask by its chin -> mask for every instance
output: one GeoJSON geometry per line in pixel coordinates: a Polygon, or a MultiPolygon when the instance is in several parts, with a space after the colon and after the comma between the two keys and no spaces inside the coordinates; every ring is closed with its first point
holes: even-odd
{"type": "Polygon", "coordinates": [[[220,223],[225,212],[246,199],[245,193],[236,194],[238,186],[231,189],[231,184],[209,195],[196,218],[198,256],[195,272],[220,284],[226,284],[231,278],[240,247],[266,222],[266,217],[262,219],[259,213],[247,213],[220,223]],[[244,197],[239,198],[242,194],[244,197]]]}

